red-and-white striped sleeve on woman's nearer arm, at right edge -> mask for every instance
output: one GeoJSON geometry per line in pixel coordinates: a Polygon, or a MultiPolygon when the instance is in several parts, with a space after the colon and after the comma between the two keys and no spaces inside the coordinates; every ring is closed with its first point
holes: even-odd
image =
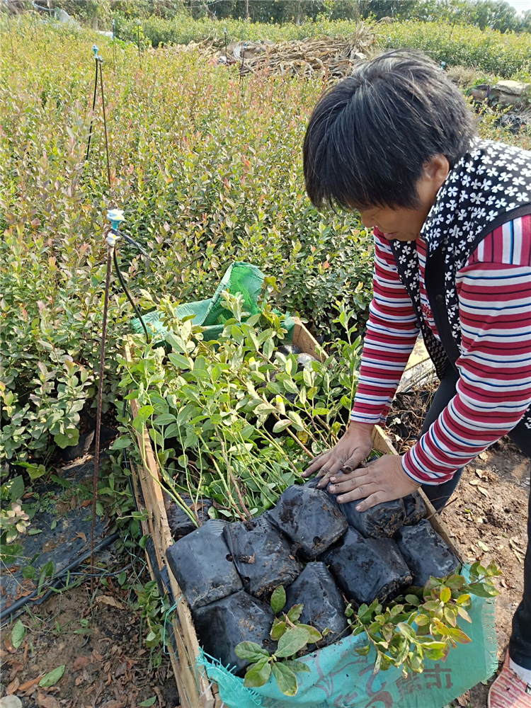
{"type": "Polygon", "coordinates": [[[456,395],[402,458],[442,484],[512,430],[531,404],[531,216],[484,239],[457,276],[462,355],[456,395]]]}

